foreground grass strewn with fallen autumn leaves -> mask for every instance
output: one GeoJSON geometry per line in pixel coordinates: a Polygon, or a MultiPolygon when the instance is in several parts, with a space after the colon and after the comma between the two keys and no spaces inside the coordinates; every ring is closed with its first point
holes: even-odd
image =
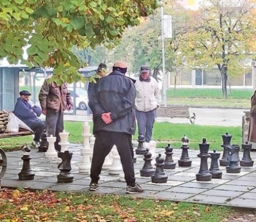
{"type": "Polygon", "coordinates": [[[234,209],[224,206],[137,199],[129,195],[8,189],[0,193],[2,222],[219,222],[233,213],[234,209]]]}

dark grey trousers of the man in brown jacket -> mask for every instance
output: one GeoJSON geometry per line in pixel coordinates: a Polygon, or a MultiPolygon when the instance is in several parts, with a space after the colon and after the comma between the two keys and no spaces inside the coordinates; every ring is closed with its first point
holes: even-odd
{"type": "Polygon", "coordinates": [[[59,133],[63,132],[63,112],[56,112],[54,109],[46,110],[46,134],[47,137],[53,135],[56,137],[56,142],[54,144],[55,149],[61,151],[61,146],[58,142],[61,141],[59,133]]]}

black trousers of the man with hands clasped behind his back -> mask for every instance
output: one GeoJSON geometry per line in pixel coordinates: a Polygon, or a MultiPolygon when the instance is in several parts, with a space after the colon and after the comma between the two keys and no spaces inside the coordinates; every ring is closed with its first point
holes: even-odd
{"type": "Polygon", "coordinates": [[[132,149],[131,135],[101,130],[97,132],[95,137],[91,164],[91,181],[98,183],[105,157],[110,153],[112,147],[116,145],[121,158],[125,181],[127,185],[135,186],[134,151],[132,149]]]}

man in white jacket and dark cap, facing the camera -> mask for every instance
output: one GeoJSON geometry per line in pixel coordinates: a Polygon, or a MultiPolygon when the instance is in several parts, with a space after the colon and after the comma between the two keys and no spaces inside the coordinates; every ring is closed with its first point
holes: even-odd
{"type": "Polygon", "coordinates": [[[156,108],[161,102],[161,93],[156,80],[149,76],[149,67],[140,68],[140,76],[136,79],[136,119],[139,135],[144,135],[146,142],[152,137],[153,125],[156,117],[156,108]]]}

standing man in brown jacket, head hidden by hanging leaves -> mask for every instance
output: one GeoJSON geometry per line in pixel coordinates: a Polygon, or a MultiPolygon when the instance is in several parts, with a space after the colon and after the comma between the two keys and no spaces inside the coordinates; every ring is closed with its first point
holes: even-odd
{"type": "MultiPolygon", "coordinates": [[[[48,77],[51,78],[52,75],[48,77]]],[[[61,138],[59,133],[63,132],[63,112],[73,107],[71,95],[67,90],[67,83],[58,86],[55,82],[48,82],[48,79],[42,85],[38,98],[40,100],[42,113],[46,115],[47,137],[53,135],[56,137],[55,149],[61,151],[58,145],[61,138]]]]}

